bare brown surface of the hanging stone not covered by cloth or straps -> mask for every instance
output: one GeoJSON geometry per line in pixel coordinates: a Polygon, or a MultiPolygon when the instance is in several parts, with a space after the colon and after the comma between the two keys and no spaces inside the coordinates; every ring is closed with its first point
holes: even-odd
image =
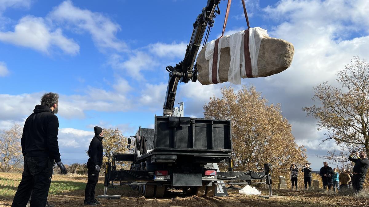
{"type": "MultiPolygon", "coordinates": [[[[203,85],[208,85],[211,83],[209,81],[209,61],[205,59],[205,50],[206,46],[197,56],[197,70],[199,71],[197,80],[203,85]]],[[[230,48],[221,48],[220,52],[218,76],[221,82],[226,82],[231,62],[230,48]]],[[[271,76],[286,70],[292,63],[293,54],[292,43],[263,36],[258,56],[258,77],[271,76]]]]}

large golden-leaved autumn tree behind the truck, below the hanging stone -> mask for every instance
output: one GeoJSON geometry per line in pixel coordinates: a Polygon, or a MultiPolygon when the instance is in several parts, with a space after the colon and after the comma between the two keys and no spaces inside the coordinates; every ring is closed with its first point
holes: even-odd
{"type": "Polygon", "coordinates": [[[222,98],[210,97],[204,117],[230,119],[232,123],[232,158],[236,171],[262,171],[270,162],[273,177],[289,176],[292,163],[306,162],[306,149],[295,143],[291,125],[281,114],[279,105],[268,105],[255,87],[243,86],[221,90],[222,98]]]}

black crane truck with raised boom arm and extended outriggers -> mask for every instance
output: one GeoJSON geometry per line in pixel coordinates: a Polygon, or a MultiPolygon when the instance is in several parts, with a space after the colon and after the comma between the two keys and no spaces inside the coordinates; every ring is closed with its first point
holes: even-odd
{"type": "Polygon", "coordinates": [[[145,197],[163,197],[170,188],[197,196],[214,196],[226,182],[265,183],[271,190],[271,166],[264,171],[234,172],[232,156],[231,120],[173,116],[178,83],[196,82],[194,64],[205,36],[207,42],[214,18],[220,14],[221,0],[208,0],[197,16],[184,59],[175,67],[168,66],[168,87],[163,105],[163,116],[154,117],[154,129],[141,128],[128,138],[128,148],[134,138],[133,153],[114,154],[105,168],[104,195],[107,187],[130,185],[145,197]],[[117,162],[130,162],[130,170],[117,169],[117,162]],[[220,172],[218,163],[228,162],[228,171],[220,172]],[[218,188],[217,188],[218,186],[218,188]]]}

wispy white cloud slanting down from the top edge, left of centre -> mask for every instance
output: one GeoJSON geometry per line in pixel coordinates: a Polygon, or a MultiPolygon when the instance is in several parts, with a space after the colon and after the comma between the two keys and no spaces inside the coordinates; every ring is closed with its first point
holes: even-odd
{"type": "Polygon", "coordinates": [[[90,10],[75,7],[72,1],[64,1],[49,14],[52,20],[65,22],[75,32],[86,31],[100,49],[112,48],[122,51],[127,45],[115,35],[120,26],[108,17],[90,10]]]}

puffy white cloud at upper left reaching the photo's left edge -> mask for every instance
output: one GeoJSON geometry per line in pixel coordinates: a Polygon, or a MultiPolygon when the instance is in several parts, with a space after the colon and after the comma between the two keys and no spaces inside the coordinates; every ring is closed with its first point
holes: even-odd
{"type": "Polygon", "coordinates": [[[14,27],[14,32],[0,32],[0,41],[44,53],[49,53],[52,46],[56,46],[70,55],[76,55],[79,52],[79,45],[73,39],[66,38],[60,28],[51,31],[43,18],[30,15],[19,20],[14,27]]]}

